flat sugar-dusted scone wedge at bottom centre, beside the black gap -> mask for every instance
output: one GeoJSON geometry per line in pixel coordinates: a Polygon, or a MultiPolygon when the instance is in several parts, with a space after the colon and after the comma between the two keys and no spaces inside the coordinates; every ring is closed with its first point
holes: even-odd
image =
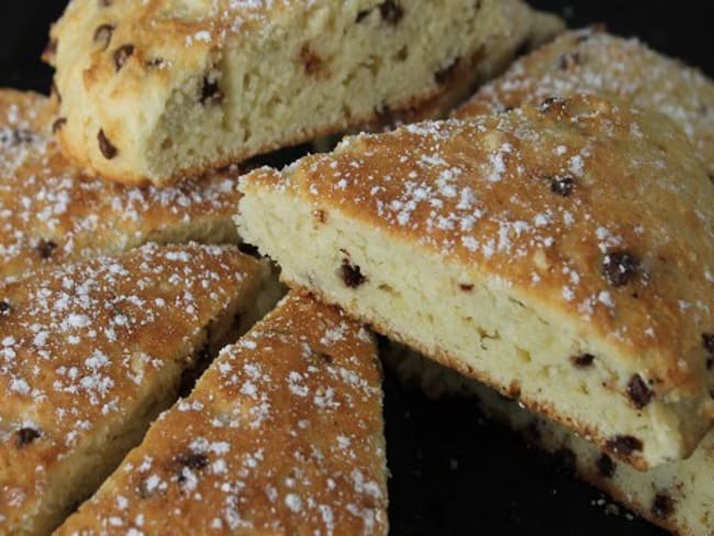
{"type": "Polygon", "coordinates": [[[224,349],[58,535],[386,535],[372,335],[289,295],[224,349]]]}

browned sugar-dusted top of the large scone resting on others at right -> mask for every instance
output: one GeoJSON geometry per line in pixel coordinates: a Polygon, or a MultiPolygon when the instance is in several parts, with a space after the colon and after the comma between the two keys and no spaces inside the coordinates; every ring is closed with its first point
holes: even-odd
{"type": "Polygon", "coordinates": [[[551,100],[346,138],[242,189],[291,192],[459,263],[602,340],[662,393],[709,398],[714,189],[663,115],[551,100]]]}

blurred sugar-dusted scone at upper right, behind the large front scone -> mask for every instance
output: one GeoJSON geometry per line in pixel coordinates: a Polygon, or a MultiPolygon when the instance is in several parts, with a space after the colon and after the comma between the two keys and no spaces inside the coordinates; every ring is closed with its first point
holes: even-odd
{"type": "Polygon", "coordinates": [[[455,112],[472,118],[537,104],[549,97],[595,93],[668,115],[695,144],[714,180],[714,83],[635,38],[593,27],[569,32],[516,62],[455,112]]]}

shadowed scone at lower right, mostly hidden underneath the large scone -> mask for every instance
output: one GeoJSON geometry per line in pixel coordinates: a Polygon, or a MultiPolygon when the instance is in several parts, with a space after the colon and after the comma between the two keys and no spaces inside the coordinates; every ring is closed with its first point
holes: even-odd
{"type": "Polygon", "coordinates": [[[400,378],[419,382],[432,397],[476,397],[483,413],[510,424],[537,447],[572,462],[578,474],[644,518],[679,536],[714,534],[714,433],[682,461],[637,471],[551,421],[536,416],[487,386],[417,354],[392,347],[388,362],[400,378]]]}

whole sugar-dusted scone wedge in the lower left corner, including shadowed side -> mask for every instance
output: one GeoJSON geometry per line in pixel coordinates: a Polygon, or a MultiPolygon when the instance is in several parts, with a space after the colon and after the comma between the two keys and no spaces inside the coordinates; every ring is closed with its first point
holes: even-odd
{"type": "Polygon", "coordinates": [[[261,273],[233,246],[146,245],[0,286],[0,534],[47,534],[93,493],[261,273]]]}

